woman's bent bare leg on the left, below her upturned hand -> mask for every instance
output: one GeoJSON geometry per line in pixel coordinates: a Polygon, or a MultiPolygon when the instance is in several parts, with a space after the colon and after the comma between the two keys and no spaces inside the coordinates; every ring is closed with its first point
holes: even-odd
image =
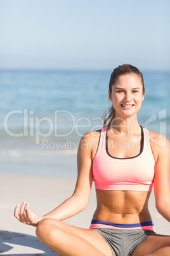
{"type": "Polygon", "coordinates": [[[112,250],[93,229],[81,229],[58,220],[46,218],[37,225],[39,241],[62,256],[112,256],[112,250]]]}

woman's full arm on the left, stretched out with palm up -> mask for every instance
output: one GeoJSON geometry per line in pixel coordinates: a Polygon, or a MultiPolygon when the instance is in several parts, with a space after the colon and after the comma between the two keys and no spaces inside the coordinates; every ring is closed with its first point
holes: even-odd
{"type": "Polygon", "coordinates": [[[93,181],[92,174],[92,145],[94,148],[93,134],[88,132],[84,134],[79,143],[77,152],[77,183],[75,185],[74,194],[65,200],[55,210],[50,211],[43,217],[37,217],[30,211],[29,204],[24,202],[20,208],[17,205],[15,208],[15,217],[23,224],[34,225],[44,218],[55,218],[56,220],[65,220],[70,218],[80,211],[84,210],[88,205],[89,195],[91,192],[91,185],[93,181]]]}

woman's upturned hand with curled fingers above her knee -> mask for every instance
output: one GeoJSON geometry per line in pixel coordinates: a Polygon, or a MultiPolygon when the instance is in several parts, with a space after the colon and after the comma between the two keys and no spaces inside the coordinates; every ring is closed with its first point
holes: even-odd
{"type": "Polygon", "coordinates": [[[38,222],[42,220],[42,217],[37,217],[35,213],[30,211],[29,203],[27,202],[22,203],[20,208],[20,213],[19,213],[19,208],[20,208],[19,204],[16,205],[14,216],[23,224],[32,225],[36,227],[38,222]]]}

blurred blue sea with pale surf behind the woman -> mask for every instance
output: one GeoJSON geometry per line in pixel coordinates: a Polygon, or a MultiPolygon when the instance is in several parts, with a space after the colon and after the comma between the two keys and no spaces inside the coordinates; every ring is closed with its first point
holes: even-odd
{"type": "MultiPolygon", "coordinates": [[[[0,70],[0,173],[77,175],[82,135],[101,129],[112,70],[0,70]]],[[[138,122],[170,139],[170,71],[142,71],[138,122]]]]}

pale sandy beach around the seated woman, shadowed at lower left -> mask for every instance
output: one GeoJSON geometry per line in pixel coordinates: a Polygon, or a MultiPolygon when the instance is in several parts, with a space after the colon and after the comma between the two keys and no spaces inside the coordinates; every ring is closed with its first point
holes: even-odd
{"type": "MultiPolygon", "coordinates": [[[[16,204],[28,201],[32,211],[39,216],[44,215],[72,195],[76,178],[27,174],[0,174],[0,177],[0,255],[56,255],[37,240],[35,227],[23,225],[13,217],[13,210],[16,204]]],[[[65,222],[88,229],[95,207],[93,185],[88,207],[65,222]]],[[[153,192],[149,207],[156,232],[169,234],[170,224],[155,209],[153,192]]]]}

